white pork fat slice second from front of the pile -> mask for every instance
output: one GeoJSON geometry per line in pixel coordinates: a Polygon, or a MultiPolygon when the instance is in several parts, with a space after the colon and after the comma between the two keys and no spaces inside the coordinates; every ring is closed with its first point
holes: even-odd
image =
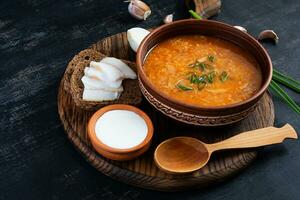
{"type": "Polygon", "coordinates": [[[81,78],[81,81],[85,89],[92,89],[92,90],[100,89],[100,90],[112,91],[112,92],[123,91],[121,80],[114,81],[114,82],[104,82],[94,77],[83,76],[81,78]]]}

